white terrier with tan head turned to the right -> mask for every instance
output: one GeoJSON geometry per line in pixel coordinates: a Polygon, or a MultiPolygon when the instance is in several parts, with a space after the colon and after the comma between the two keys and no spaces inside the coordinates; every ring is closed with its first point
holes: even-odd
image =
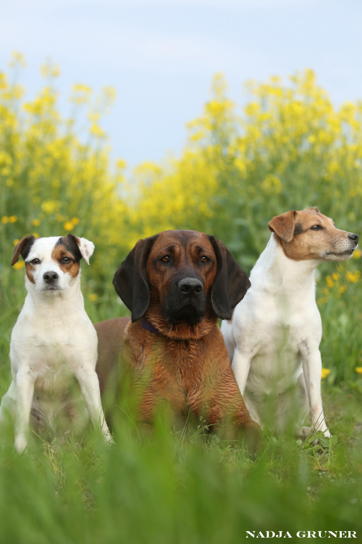
{"type": "Polygon", "coordinates": [[[251,271],[251,288],[221,331],[254,421],[277,432],[291,423],[301,437],[311,430],[330,436],[321,399],[315,269],[349,259],[358,234],[338,230],[316,207],[278,215],[269,230],[268,245],[251,271]],[[308,413],[312,429],[302,426],[308,413]]]}

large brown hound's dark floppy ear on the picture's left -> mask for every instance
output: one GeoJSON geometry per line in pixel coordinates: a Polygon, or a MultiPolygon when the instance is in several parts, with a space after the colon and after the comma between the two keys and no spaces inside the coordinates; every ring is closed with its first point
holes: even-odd
{"type": "Polygon", "coordinates": [[[138,240],[113,277],[119,298],[132,312],[132,322],[144,316],[150,303],[147,260],[157,237],[158,234],[138,240]]]}

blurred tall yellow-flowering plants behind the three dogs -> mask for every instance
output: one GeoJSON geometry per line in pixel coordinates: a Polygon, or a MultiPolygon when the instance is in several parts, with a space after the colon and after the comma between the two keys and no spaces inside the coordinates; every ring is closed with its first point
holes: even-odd
{"type": "MultiPolygon", "coordinates": [[[[216,75],[211,99],[188,123],[181,156],[142,163],[127,175],[125,160],[111,161],[101,128],[115,90],[93,96],[86,85],[73,85],[65,118],[59,67],[42,66],[45,86],[27,101],[19,83],[23,64],[16,53],[0,72],[1,302],[5,316],[15,308],[5,343],[24,298],[23,262],[14,267],[20,271],[9,265],[24,234],[72,232],[94,242],[83,290],[96,321],[125,313],[113,293],[114,271],[139,238],[168,228],[214,234],[248,272],[270,236],[268,221],[289,209],[318,206],[339,228],[361,233],[362,104],[336,108],[312,71],[286,83],[278,77],[247,83],[241,116],[225,78],[216,75]]],[[[331,382],[352,379],[360,364],[359,257],[357,250],[348,263],[320,267],[322,355],[331,382]]]]}

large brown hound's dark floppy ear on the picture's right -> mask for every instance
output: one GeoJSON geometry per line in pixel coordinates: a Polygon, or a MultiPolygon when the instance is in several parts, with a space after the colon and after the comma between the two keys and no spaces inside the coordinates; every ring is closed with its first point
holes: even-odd
{"type": "Polygon", "coordinates": [[[217,259],[211,304],[220,319],[231,319],[233,308],[243,299],[251,284],[244,270],[232,256],[231,251],[214,236],[209,236],[209,240],[217,259]]]}

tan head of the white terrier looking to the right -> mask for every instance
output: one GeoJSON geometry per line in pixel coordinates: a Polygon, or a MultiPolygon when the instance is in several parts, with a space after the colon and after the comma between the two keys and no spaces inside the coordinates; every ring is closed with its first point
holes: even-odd
{"type": "Polygon", "coordinates": [[[318,208],[292,210],[269,221],[284,254],[294,261],[346,261],[357,248],[358,234],[339,230],[318,208]]]}

